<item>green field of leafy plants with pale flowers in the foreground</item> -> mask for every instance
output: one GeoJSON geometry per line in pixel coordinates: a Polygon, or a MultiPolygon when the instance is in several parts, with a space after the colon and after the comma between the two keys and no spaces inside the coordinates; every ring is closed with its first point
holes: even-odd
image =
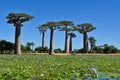
{"type": "Polygon", "coordinates": [[[0,80],[120,78],[120,56],[0,55],[0,80]]]}

